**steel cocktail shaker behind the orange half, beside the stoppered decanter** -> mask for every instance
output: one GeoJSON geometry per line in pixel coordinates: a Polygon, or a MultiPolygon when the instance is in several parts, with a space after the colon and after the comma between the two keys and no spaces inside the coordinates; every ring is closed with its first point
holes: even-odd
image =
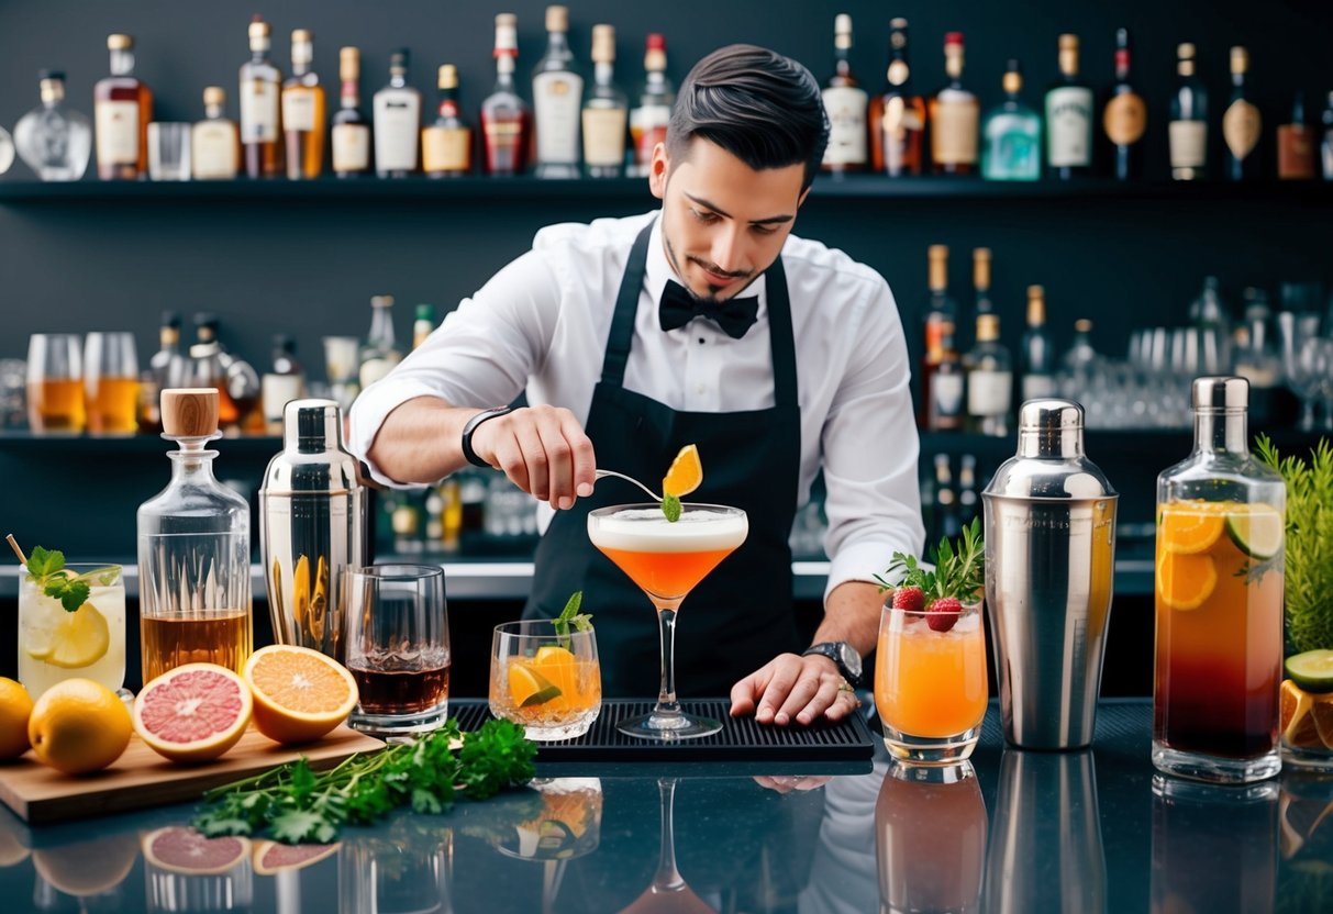
{"type": "Polygon", "coordinates": [[[365,493],[336,402],[287,404],[283,453],[264,472],[259,505],[273,637],[341,662],[347,569],[365,565],[365,493]]]}

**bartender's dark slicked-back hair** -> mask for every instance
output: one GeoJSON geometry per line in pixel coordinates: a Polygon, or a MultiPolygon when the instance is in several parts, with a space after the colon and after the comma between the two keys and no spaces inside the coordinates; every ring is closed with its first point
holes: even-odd
{"type": "Polygon", "coordinates": [[[754,171],[804,164],[804,191],[824,159],[829,120],[810,71],[766,48],[732,44],[685,77],[666,127],[666,155],[682,161],[696,136],[754,171]]]}

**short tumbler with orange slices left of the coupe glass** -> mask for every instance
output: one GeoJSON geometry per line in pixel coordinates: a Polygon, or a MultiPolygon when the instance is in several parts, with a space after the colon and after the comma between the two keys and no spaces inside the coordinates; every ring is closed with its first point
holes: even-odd
{"type": "Polygon", "coordinates": [[[491,713],[525,727],[529,739],[588,733],[601,713],[595,633],[560,636],[549,620],[497,625],[491,642],[491,713]]]}

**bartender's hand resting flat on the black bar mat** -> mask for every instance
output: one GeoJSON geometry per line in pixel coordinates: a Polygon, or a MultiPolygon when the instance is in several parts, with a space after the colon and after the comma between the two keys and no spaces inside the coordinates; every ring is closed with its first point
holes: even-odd
{"type": "Polygon", "coordinates": [[[821,654],[778,654],[732,686],[732,717],[753,713],[760,723],[805,726],[821,714],[838,721],[860,705],[837,664],[821,654]]]}

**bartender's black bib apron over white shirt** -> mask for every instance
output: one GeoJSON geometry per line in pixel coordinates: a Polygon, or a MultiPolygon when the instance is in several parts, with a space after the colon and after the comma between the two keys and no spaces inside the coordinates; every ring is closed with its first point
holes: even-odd
{"type": "MultiPolygon", "coordinates": [[[[737,680],[802,646],[788,546],[800,482],[801,425],[786,274],[781,257],[765,272],[773,408],[676,412],[624,386],[651,233],[652,224],[629,252],[585,430],[600,466],[653,489],[680,449],[697,444],[704,484],[688,501],[745,510],[749,536],[744,545],[685,597],[676,622],[677,694],[726,695],[737,680]]],[[[584,612],[592,613],[597,632],[603,690],[611,697],[656,695],[661,680],[657,613],[648,594],[588,540],[589,510],[636,501],[644,501],[637,489],[608,478],[572,509],[556,512],[537,545],[532,596],[524,609],[524,618],[552,618],[571,593],[584,592],[584,612]]]]}

